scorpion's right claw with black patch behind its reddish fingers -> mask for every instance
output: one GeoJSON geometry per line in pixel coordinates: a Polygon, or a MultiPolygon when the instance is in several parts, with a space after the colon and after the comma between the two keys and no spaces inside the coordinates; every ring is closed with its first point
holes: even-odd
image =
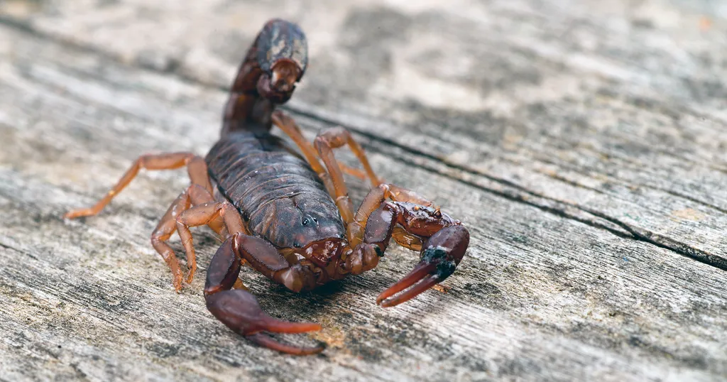
{"type": "Polygon", "coordinates": [[[470,244],[470,233],[462,226],[449,226],[433,234],[422,249],[421,261],[376,299],[380,306],[396,306],[419,295],[454,273],[470,244]],[[406,290],[406,288],[411,289],[406,290]],[[401,295],[396,293],[406,290],[401,295]]]}

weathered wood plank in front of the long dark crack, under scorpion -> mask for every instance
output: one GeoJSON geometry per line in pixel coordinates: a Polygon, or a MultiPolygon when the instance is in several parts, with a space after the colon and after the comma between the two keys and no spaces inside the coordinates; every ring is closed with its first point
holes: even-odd
{"type": "MultiPolygon", "coordinates": [[[[6,378],[727,374],[723,272],[560,210],[544,212],[545,199],[532,206],[483,191],[478,184],[490,180],[476,173],[363,135],[357,136],[384,178],[434,197],[472,228],[467,260],[445,283],[449,293],[430,291],[398,309],[377,308],[374,296],[411,266],[413,256],[403,250],[391,251],[377,271],[310,295],[285,293],[246,271],[267,309],[322,322],[318,338],[332,343],[323,357],[294,360],[251,346],[204,309],[204,270],[176,295],[148,244],[166,203],[185,186],[183,175],[145,174],[103,215],[60,219],[103,194],[143,152],[204,152],[217,135],[224,94],[0,28],[0,99],[12,100],[0,103],[0,137],[9,143],[0,152],[0,325],[11,333],[0,343],[6,378]]],[[[299,117],[308,134],[324,124],[299,117]]],[[[353,183],[356,199],[365,191],[353,183]]],[[[215,242],[204,231],[196,237],[204,265],[215,242]]]]}

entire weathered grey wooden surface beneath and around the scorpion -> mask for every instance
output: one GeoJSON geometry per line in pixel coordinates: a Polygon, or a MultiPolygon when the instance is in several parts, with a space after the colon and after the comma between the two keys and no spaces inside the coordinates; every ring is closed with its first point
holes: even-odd
{"type": "Polygon", "coordinates": [[[441,4],[0,2],[0,378],[727,378],[727,7],[441,4]],[[414,264],[401,248],[306,295],[244,271],[271,314],[324,325],[317,357],[260,349],[206,311],[208,230],[174,293],[148,237],[182,171],[60,218],[140,154],[204,154],[270,17],[308,34],[286,107],[306,134],[348,127],[379,175],[472,234],[446,292],[394,309],[374,298],[414,264]]]}

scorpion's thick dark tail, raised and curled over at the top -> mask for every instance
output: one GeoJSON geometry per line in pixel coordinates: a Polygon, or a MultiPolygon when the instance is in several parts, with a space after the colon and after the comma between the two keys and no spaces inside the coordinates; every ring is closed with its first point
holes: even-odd
{"type": "Polygon", "coordinates": [[[307,65],[308,42],[300,27],[281,19],[265,23],[233,81],[222,135],[270,130],[276,105],[290,99],[307,65]]]}

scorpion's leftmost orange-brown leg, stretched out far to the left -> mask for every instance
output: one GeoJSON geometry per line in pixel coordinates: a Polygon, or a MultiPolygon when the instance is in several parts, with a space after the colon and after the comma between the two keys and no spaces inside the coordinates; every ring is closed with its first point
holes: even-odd
{"type": "Polygon", "coordinates": [[[158,155],[142,155],[140,156],[126,173],[116,186],[111,188],[106,195],[97,202],[91,208],[80,208],[78,210],[71,210],[63,215],[63,218],[73,219],[81,216],[92,216],[103,210],[114,196],[119,194],[131,181],[136,177],[137,173],[141,169],[147,170],[173,170],[182,166],[187,166],[187,170],[190,175],[190,179],[193,183],[197,183],[212,193],[212,184],[209,183],[209,177],[207,176],[207,165],[204,163],[204,159],[201,156],[196,156],[191,153],[169,153],[169,154],[158,154],[158,155]]]}

